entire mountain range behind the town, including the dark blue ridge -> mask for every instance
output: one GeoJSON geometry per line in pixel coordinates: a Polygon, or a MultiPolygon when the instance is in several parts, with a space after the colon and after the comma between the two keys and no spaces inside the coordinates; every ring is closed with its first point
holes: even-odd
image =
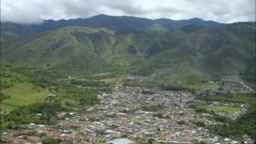
{"type": "Polygon", "coordinates": [[[222,24],[114,17],[1,23],[2,58],[50,74],[157,75],[202,82],[220,75],[255,78],[255,22],[222,24]]]}

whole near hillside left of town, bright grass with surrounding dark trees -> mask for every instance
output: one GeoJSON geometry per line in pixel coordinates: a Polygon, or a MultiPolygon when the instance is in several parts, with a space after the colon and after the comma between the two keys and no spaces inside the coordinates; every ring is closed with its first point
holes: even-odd
{"type": "Polygon", "coordinates": [[[97,102],[96,94],[86,88],[39,76],[5,61],[1,66],[1,110],[5,114],[1,116],[1,130],[18,129],[31,122],[54,124],[57,112],[97,102]],[[51,93],[57,97],[46,100],[51,93]]]}

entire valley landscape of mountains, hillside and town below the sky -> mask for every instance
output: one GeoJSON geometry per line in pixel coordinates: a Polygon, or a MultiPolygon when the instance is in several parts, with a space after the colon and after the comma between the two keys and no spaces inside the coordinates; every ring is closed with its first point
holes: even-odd
{"type": "Polygon", "coordinates": [[[255,22],[1,24],[1,143],[255,143],[255,22]]]}

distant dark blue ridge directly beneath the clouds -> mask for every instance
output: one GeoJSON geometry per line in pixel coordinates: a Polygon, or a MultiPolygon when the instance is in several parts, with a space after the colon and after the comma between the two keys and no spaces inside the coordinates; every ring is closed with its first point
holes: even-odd
{"type": "Polygon", "coordinates": [[[127,28],[133,28],[134,30],[149,30],[156,27],[161,27],[163,30],[187,30],[190,29],[188,28],[190,26],[193,26],[193,29],[198,29],[202,26],[218,27],[223,26],[223,24],[213,21],[204,21],[200,18],[175,21],[166,18],[152,20],[147,18],[100,14],[91,18],[77,18],[58,21],[46,20],[39,25],[22,25],[13,22],[2,22],[1,41],[38,34],[43,31],[56,30],[66,26],[86,26],[90,28],[106,27],[111,30],[126,30],[127,28]]]}

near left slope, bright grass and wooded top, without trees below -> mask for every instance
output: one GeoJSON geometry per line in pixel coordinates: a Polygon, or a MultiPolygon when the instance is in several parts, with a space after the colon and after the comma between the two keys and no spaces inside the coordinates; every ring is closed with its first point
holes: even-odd
{"type": "Polygon", "coordinates": [[[33,102],[42,102],[47,94],[46,89],[35,86],[31,78],[5,61],[1,65],[1,113],[14,110],[18,106],[28,106],[33,102]]]}

